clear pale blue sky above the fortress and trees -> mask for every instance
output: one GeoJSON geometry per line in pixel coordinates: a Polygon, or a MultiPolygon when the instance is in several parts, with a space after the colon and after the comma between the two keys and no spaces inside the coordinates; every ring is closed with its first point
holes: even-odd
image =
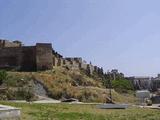
{"type": "Polygon", "coordinates": [[[160,0],[0,0],[0,38],[52,42],[105,71],[160,73],[160,0]]]}

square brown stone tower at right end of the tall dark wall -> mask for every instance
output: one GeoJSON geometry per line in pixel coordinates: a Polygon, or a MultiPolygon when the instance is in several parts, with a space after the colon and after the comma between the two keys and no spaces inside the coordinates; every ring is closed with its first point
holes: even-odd
{"type": "Polygon", "coordinates": [[[52,45],[45,43],[36,44],[36,64],[37,70],[53,68],[52,45]]]}

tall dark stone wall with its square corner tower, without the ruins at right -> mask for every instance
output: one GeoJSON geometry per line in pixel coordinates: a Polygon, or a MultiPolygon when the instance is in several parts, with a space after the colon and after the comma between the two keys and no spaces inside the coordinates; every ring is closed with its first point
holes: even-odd
{"type": "Polygon", "coordinates": [[[36,46],[20,46],[0,41],[0,68],[22,71],[52,69],[52,45],[38,43],[36,46]],[[7,43],[7,44],[6,44],[7,43]]]}

